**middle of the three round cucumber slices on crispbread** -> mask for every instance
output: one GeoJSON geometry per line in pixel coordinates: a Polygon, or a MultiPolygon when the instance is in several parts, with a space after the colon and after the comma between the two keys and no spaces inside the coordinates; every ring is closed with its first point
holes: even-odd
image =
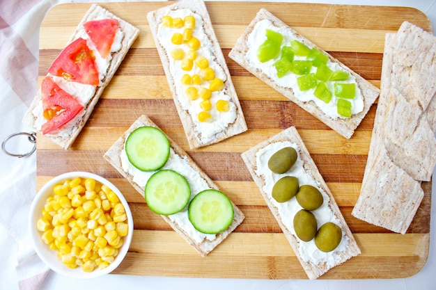
{"type": "Polygon", "coordinates": [[[178,172],[159,170],[148,179],[144,195],[152,211],[169,216],[186,207],[191,198],[191,188],[178,172]]]}

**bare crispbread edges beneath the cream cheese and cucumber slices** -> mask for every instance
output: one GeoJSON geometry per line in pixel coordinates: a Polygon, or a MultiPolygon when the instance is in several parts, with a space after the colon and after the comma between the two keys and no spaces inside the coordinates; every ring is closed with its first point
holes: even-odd
{"type": "MultiPolygon", "coordinates": [[[[125,170],[123,170],[123,166],[121,165],[121,159],[120,159],[120,154],[124,149],[125,139],[127,138],[127,136],[129,136],[129,134],[132,131],[134,131],[134,129],[137,129],[138,127],[142,127],[142,126],[157,127],[156,124],[153,123],[153,121],[151,121],[146,115],[141,115],[141,117],[139,117],[130,126],[130,128],[127,129],[127,131],[125,131],[125,134],[123,134],[123,136],[118,138],[118,140],[116,140],[114,145],[112,145],[109,148],[109,150],[107,150],[107,152],[104,153],[104,159],[109,161],[109,163],[111,163],[111,165],[114,166],[114,168],[116,168],[116,170],[118,170],[118,172],[120,172],[120,174],[123,175],[123,177],[125,177],[130,182],[130,184],[132,184],[132,186],[141,195],[144,196],[145,184],[139,185],[139,184],[137,184],[137,182],[134,182],[134,177],[132,175],[130,175],[129,173],[127,173],[125,170]]],[[[215,185],[215,183],[212,181],[212,179],[210,179],[210,177],[208,177],[208,175],[206,175],[205,172],[203,172],[203,170],[201,170],[201,168],[199,168],[196,165],[196,163],[194,163],[194,161],[191,159],[191,157],[184,150],[182,150],[182,147],[180,147],[176,143],[174,143],[173,140],[171,140],[171,138],[169,138],[169,140],[170,140],[171,148],[174,150],[174,152],[176,154],[182,156],[182,158],[185,159],[187,161],[187,163],[189,163],[189,166],[191,166],[192,168],[194,168],[194,170],[199,172],[201,177],[203,179],[205,179],[205,181],[208,183],[208,186],[210,186],[210,188],[214,188],[214,189],[219,190],[218,186],[215,185]]],[[[180,172],[180,173],[182,173],[182,172],[180,172]]],[[[233,202],[232,202],[232,204],[233,204],[233,202]]],[[[184,210],[186,211],[186,209],[184,209],[184,210]]],[[[217,245],[219,245],[219,243],[224,241],[224,239],[226,239],[226,237],[229,234],[231,234],[231,232],[233,232],[233,230],[236,227],[238,227],[238,225],[240,225],[240,223],[242,223],[242,220],[244,220],[244,218],[245,218],[244,214],[235,204],[233,204],[233,210],[234,210],[234,218],[233,218],[233,223],[230,225],[230,227],[228,227],[228,229],[226,229],[224,232],[217,234],[217,236],[214,240],[209,241],[208,239],[204,239],[200,243],[196,242],[192,238],[192,236],[189,235],[188,232],[186,232],[182,227],[180,227],[180,225],[178,225],[175,221],[171,220],[171,218],[169,218],[169,216],[162,216],[162,218],[164,218],[166,223],[169,223],[169,225],[171,225],[171,227],[178,234],[180,234],[180,236],[182,236],[182,238],[185,239],[185,241],[187,241],[187,243],[189,243],[189,245],[192,245],[192,247],[202,257],[205,257],[205,255],[208,255],[208,253],[210,251],[212,251],[217,245]]]]}

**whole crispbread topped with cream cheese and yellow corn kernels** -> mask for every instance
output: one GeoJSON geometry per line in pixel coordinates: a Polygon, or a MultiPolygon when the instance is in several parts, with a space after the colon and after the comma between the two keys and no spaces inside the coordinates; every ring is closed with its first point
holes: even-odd
{"type": "Polygon", "coordinates": [[[247,131],[203,0],[151,11],[148,24],[191,149],[247,131]]]}

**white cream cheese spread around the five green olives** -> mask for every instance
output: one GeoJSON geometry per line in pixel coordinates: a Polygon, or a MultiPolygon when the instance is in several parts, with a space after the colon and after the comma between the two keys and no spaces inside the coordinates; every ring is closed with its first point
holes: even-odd
{"type": "Polygon", "coordinates": [[[274,207],[277,207],[280,214],[281,223],[283,223],[283,225],[293,234],[293,236],[295,236],[297,241],[299,241],[298,251],[302,259],[312,264],[326,263],[329,266],[334,266],[336,261],[341,259],[338,252],[343,252],[345,251],[345,248],[347,248],[349,243],[348,237],[342,234],[341,243],[339,243],[338,247],[332,252],[322,252],[321,250],[318,250],[313,239],[309,242],[301,241],[295,234],[293,227],[294,216],[297,214],[297,211],[303,209],[298,204],[297,199],[292,198],[288,202],[277,202],[274,200],[274,198],[272,198],[272,187],[277,180],[284,176],[297,177],[299,180],[299,186],[309,184],[318,188],[320,193],[322,193],[322,198],[324,198],[322,206],[315,211],[311,211],[316,217],[318,229],[321,225],[324,225],[327,222],[335,223],[341,227],[341,222],[338,220],[338,218],[336,218],[333,211],[329,208],[329,196],[327,193],[325,193],[325,191],[322,190],[322,188],[320,188],[320,185],[312,177],[311,172],[308,172],[304,169],[303,161],[299,156],[292,168],[290,168],[288,172],[285,172],[281,175],[272,172],[270,168],[268,168],[268,160],[272,154],[279,151],[283,147],[293,147],[297,152],[299,152],[298,146],[295,143],[283,141],[267,145],[256,153],[256,174],[265,180],[263,191],[267,194],[267,198],[274,205],[274,207]]]}

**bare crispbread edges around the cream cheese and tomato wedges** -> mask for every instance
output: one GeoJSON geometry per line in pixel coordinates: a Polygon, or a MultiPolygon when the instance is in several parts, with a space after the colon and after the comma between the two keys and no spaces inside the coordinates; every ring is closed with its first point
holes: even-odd
{"type": "MultiPolygon", "coordinates": [[[[74,143],[81,129],[86,124],[86,121],[91,116],[91,113],[93,112],[93,108],[97,104],[98,99],[100,99],[100,95],[102,95],[104,88],[106,88],[109,82],[111,81],[112,76],[114,76],[116,70],[118,69],[118,66],[125,58],[127,51],[129,51],[134,40],[136,40],[137,36],[139,35],[139,29],[137,29],[136,27],[132,26],[128,22],[125,22],[125,20],[120,19],[119,17],[110,13],[108,10],[102,8],[101,6],[92,4],[91,8],[89,8],[89,10],[86,12],[84,17],[81,19],[81,22],[79,22],[79,24],[77,25],[77,28],[75,29],[74,33],[72,33],[72,36],[70,40],[68,40],[68,43],[77,39],[78,31],[81,28],[82,24],[93,19],[98,19],[98,17],[101,17],[102,15],[104,15],[104,17],[118,19],[118,25],[120,27],[120,30],[123,31],[124,33],[124,37],[121,40],[121,49],[111,54],[112,59],[109,68],[107,70],[107,75],[102,81],[100,81],[100,85],[95,89],[95,94],[84,108],[85,113],[83,117],[77,121],[75,126],[69,132],[69,134],[65,134],[65,135],[49,134],[45,136],[46,138],[49,138],[50,140],[52,140],[54,143],[58,144],[65,150],[68,150],[71,147],[72,143],[74,143]]],[[[39,89],[38,92],[36,93],[35,98],[33,99],[31,106],[29,107],[29,110],[26,112],[26,115],[24,115],[24,119],[23,119],[24,122],[30,124],[31,127],[35,126],[35,121],[37,118],[35,115],[33,115],[32,111],[33,108],[38,106],[40,99],[41,99],[41,90],[39,89]]]]}

